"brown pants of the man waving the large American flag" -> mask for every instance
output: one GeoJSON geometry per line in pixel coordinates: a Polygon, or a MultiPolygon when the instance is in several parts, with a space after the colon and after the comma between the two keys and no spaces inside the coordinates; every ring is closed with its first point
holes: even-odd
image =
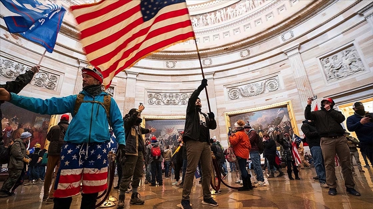
{"type": "Polygon", "coordinates": [[[203,198],[209,199],[211,197],[210,181],[212,167],[210,145],[207,142],[200,142],[192,139],[187,141],[185,145],[188,165],[186,166],[182,200],[190,200],[189,196],[192,190],[194,173],[197,169],[198,161],[201,162],[203,198]]]}

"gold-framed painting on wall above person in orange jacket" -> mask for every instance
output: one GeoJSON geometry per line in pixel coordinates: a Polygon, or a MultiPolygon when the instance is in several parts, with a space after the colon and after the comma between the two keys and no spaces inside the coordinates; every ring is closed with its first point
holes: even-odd
{"type": "Polygon", "coordinates": [[[290,100],[263,107],[226,112],[225,119],[227,133],[229,128],[234,130],[234,123],[242,119],[245,122],[249,121],[251,128],[254,128],[261,138],[268,133],[276,139],[275,131],[282,135],[285,133],[291,136],[293,133],[299,135],[290,100]]]}

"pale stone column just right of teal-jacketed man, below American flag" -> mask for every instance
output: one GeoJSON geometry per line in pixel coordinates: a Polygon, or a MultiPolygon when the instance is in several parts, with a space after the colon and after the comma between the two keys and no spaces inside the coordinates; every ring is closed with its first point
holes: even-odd
{"type": "Polygon", "coordinates": [[[123,114],[126,115],[128,111],[135,107],[135,94],[136,94],[136,77],[138,73],[132,71],[126,71],[127,82],[126,82],[126,98],[124,100],[123,114]]]}

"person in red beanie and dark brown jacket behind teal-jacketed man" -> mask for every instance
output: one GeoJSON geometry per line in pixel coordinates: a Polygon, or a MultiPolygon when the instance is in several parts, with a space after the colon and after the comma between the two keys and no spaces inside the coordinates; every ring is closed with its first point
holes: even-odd
{"type": "MultiPolygon", "coordinates": [[[[47,134],[47,140],[50,141],[48,147],[48,161],[47,161],[47,171],[44,180],[44,195],[43,201],[46,201],[47,204],[53,203],[53,194],[54,194],[54,187],[52,186],[50,189],[50,185],[52,179],[54,177],[53,184],[55,184],[57,171],[60,168],[61,163],[61,148],[62,145],[65,143],[63,138],[65,138],[66,130],[69,127],[69,115],[62,115],[60,118],[60,122],[52,126],[49,129],[47,134]],[[56,172],[54,172],[56,170],[56,172]],[[54,175],[53,175],[54,173],[54,175]]],[[[44,158],[43,158],[44,160],[44,158]]]]}

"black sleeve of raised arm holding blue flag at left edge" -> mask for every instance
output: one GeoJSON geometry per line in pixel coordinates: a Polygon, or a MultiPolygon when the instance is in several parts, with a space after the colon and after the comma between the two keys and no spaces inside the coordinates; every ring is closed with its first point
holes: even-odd
{"type": "MultiPolygon", "coordinates": [[[[34,77],[34,72],[31,70],[26,71],[26,73],[18,75],[16,80],[14,81],[7,81],[5,84],[0,84],[0,88],[4,88],[5,90],[9,92],[13,92],[18,94],[19,91],[21,91],[30,81],[32,80],[32,77],[34,77]]],[[[1,106],[0,102],[0,106],[1,106]]],[[[3,114],[1,113],[1,108],[0,108],[0,117],[3,118],[3,114]]],[[[0,128],[3,130],[3,126],[0,123],[0,128]]],[[[0,138],[3,138],[2,135],[0,135],[0,138]]],[[[1,141],[1,139],[0,139],[1,141]]]]}

